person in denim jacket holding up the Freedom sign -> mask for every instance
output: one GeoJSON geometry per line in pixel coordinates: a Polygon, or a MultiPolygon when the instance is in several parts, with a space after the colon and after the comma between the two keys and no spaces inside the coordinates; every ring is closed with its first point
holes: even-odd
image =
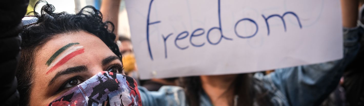
{"type": "Polygon", "coordinates": [[[262,74],[201,75],[182,79],[183,87],[157,92],[139,87],[144,106],[318,106],[335,90],[359,50],[357,0],[341,0],[344,58],[333,62],[276,69],[262,74]]]}

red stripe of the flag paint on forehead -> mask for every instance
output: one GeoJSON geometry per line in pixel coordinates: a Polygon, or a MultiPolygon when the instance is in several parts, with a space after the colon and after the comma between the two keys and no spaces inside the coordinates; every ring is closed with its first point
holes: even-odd
{"type": "Polygon", "coordinates": [[[64,63],[66,63],[68,60],[72,59],[73,57],[75,57],[76,55],[82,54],[84,53],[84,48],[74,51],[71,54],[68,54],[67,56],[65,56],[64,58],[62,58],[58,63],[55,64],[55,66],[53,66],[50,70],[47,71],[46,74],[48,74],[49,72],[52,72],[54,70],[56,70],[58,67],[62,66],[64,63]]]}

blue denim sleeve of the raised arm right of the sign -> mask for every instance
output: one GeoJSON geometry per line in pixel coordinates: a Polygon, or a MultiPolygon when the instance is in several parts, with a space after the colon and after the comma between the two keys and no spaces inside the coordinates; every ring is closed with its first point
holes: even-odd
{"type": "Polygon", "coordinates": [[[277,69],[264,76],[270,90],[290,106],[318,106],[337,87],[344,68],[359,50],[361,27],[344,28],[344,58],[333,62],[277,69]]]}

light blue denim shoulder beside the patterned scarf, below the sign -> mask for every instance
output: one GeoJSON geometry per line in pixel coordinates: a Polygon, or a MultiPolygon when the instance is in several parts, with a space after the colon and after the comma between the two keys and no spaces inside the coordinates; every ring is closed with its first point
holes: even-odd
{"type": "Polygon", "coordinates": [[[183,88],[179,86],[162,86],[158,91],[148,91],[138,86],[143,106],[186,106],[183,88]]]}

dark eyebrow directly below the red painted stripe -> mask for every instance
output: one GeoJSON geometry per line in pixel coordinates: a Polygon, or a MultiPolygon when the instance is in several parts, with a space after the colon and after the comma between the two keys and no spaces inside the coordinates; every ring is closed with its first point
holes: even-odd
{"type": "Polygon", "coordinates": [[[62,75],[66,75],[66,74],[73,74],[73,73],[78,73],[78,72],[85,72],[87,71],[87,67],[86,66],[75,66],[75,67],[70,67],[67,68],[66,70],[63,71],[59,71],[57,72],[57,74],[51,79],[51,81],[48,83],[48,86],[52,85],[52,83],[54,81],[56,81],[56,79],[62,75]]]}

